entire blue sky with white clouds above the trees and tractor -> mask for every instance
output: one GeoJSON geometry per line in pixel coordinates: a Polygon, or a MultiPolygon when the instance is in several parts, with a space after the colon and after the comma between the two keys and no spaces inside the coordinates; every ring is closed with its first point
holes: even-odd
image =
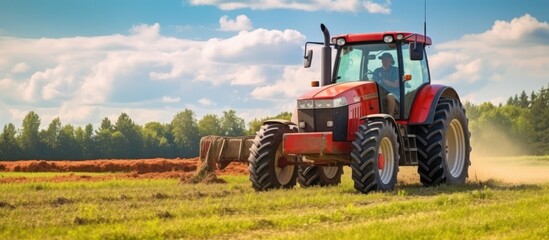
{"type": "MultiPolygon", "coordinates": [[[[499,103],[547,86],[549,2],[428,1],[434,83],[499,103]]],[[[28,111],[63,123],[127,112],[169,122],[235,109],[292,111],[318,78],[302,45],[332,34],[423,31],[423,1],[0,0],[0,124],[28,111]]]]}

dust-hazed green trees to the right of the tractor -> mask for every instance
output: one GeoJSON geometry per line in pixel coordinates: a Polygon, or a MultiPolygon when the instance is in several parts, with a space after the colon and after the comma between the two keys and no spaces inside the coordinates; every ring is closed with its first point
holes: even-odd
{"type": "Polygon", "coordinates": [[[549,154],[549,89],[510,97],[505,104],[465,103],[473,153],[549,154]]]}

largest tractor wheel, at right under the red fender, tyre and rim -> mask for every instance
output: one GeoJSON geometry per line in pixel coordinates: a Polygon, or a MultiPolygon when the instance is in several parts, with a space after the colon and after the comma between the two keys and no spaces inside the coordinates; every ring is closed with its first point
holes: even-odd
{"type": "Polygon", "coordinates": [[[417,128],[418,173],[424,186],[465,183],[471,151],[467,124],[459,100],[441,98],[433,122],[417,128]]]}

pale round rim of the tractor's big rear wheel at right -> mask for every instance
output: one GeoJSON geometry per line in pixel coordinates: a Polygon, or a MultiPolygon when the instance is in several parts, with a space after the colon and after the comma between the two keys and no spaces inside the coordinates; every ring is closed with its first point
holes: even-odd
{"type": "Polygon", "coordinates": [[[457,119],[450,122],[446,133],[446,163],[452,177],[461,176],[465,165],[465,134],[457,119]]]}

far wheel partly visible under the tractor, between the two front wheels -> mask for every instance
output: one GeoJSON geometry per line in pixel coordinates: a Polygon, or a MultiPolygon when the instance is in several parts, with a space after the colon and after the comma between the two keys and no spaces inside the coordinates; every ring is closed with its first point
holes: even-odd
{"type": "Polygon", "coordinates": [[[343,166],[299,166],[297,182],[301,187],[337,186],[341,183],[343,166]]]}

